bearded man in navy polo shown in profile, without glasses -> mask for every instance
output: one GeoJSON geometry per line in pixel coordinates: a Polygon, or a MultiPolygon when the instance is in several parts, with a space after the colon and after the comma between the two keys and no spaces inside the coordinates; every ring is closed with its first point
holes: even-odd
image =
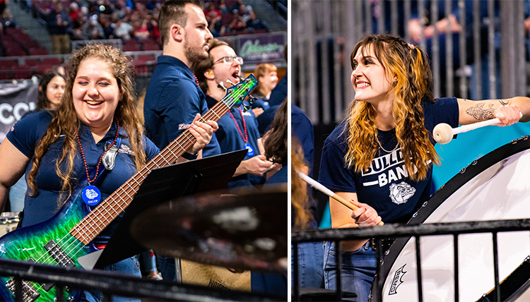
{"type": "MultiPolygon", "coordinates": [[[[208,41],[213,36],[200,1],[165,1],[160,8],[159,27],[163,56],[158,56],[151,76],[143,116],[148,137],[162,150],[190,127],[197,114],[208,111],[204,93],[190,68],[208,57],[208,41]]],[[[201,152],[202,157],[220,154],[215,135],[199,155],[201,152]]],[[[186,159],[197,156],[182,155],[186,159]]]]}

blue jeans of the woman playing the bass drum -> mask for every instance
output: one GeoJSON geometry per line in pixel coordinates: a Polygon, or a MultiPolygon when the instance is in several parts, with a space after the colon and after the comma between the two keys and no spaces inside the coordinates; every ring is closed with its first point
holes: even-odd
{"type": "MultiPolygon", "coordinates": [[[[336,248],[333,242],[324,243],[324,282],[326,289],[336,289],[336,248]]],[[[342,290],[357,294],[355,301],[368,301],[377,270],[375,251],[365,246],[353,252],[341,253],[342,290]]]]}

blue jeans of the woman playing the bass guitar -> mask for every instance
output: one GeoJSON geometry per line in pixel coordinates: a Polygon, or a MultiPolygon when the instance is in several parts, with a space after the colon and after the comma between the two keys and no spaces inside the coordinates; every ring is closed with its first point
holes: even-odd
{"type": "MultiPolygon", "coordinates": [[[[129,274],[141,278],[139,256],[136,255],[131,258],[127,258],[120,262],[114,263],[105,267],[105,272],[119,272],[120,274],[129,274]]],[[[103,294],[101,291],[83,291],[81,301],[88,302],[100,302],[103,300],[103,294]]],[[[112,296],[112,301],[129,301],[129,302],[140,302],[139,298],[127,298],[121,296],[112,296]]]]}

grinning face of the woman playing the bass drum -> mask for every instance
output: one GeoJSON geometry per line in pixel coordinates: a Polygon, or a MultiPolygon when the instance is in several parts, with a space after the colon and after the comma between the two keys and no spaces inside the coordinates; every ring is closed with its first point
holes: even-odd
{"type": "Polygon", "coordinates": [[[392,78],[377,60],[373,47],[359,48],[352,61],[351,83],[355,100],[375,104],[391,97],[392,78]]]}

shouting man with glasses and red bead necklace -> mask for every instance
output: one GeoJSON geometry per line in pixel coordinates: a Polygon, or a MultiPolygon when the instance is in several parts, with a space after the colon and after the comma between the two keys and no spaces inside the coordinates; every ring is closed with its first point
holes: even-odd
{"type": "MultiPolygon", "coordinates": [[[[213,39],[208,47],[208,57],[194,64],[201,89],[206,94],[208,108],[225,97],[225,88],[240,82],[243,59],[237,56],[228,43],[213,39]],[[223,86],[219,85],[223,83],[223,86]]],[[[247,149],[247,156],[237,167],[228,183],[236,186],[257,186],[265,182],[265,173],[273,168],[264,156],[256,116],[252,110],[233,107],[218,121],[216,131],[221,153],[247,149]]]]}

